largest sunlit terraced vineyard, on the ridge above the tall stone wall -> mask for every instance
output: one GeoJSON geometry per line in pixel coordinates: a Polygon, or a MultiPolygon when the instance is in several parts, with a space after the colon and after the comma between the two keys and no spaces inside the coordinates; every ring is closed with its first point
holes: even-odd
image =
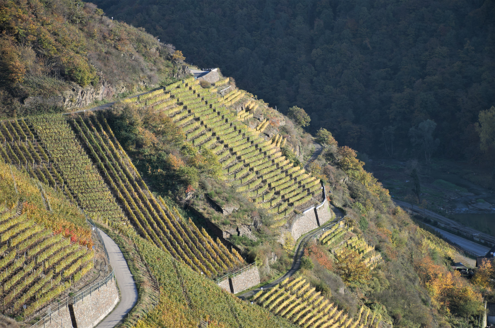
{"type": "Polygon", "coordinates": [[[282,156],[280,147],[286,140],[281,135],[269,140],[260,137],[269,123],[266,119],[256,128],[243,123],[253,117],[258,102],[242,90],[219,96],[218,86],[227,82],[203,89],[190,78],[126,102],[171,117],[195,147],[207,147],[218,155],[223,173],[238,185],[237,190],[274,214],[281,226],[295,207],[304,207],[319,193],[320,180],[282,156]]]}

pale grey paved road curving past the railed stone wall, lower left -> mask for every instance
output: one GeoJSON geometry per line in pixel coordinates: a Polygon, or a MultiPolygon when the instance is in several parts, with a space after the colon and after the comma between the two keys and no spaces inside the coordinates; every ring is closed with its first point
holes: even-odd
{"type": "MultiPolygon", "coordinates": [[[[99,229],[98,229],[99,230],[99,229]]],[[[131,275],[131,271],[127,266],[124,254],[120,251],[119,246],[108,237],[103,231],[99,230],[103,242],[105,243],[110,264],[115,270],[115,278],[120,289],[120,303],[113,311],[106,316],[96,327],[97,328],[113,328],[131,311],[138,301],[138,289],[131,275]]]]}

